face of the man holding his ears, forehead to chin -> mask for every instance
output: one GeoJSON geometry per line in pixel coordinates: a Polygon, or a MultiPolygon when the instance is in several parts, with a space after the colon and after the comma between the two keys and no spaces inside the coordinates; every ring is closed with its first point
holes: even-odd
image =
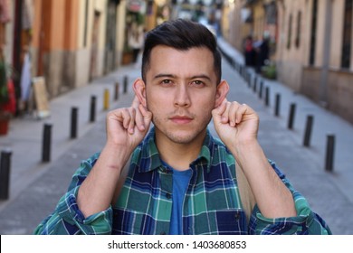
{"type": "Polygon", "coordinates": [[[156,134],[190,144],[205,134],[215,108],[214,57],[207,48],[155,47],[146,75],[146,102],[156,134]]]}

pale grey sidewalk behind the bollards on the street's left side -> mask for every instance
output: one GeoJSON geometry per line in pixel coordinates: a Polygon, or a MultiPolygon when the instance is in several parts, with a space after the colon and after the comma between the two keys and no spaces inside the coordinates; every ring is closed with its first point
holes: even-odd
{"type": "MultiPolygon", "coordinates": [[[[129,84],[139,76],[139,70],[122,67],[108,76],[94,80],[89,85],[74,89],[50,101],[51,117],[36,119],[34,117],[14,118],[10,123],[7,136],[0,137],[0,149],[10,149],[11,180],[9,201],[0,201],[0,211],[18,194],[23,192],[41,173],[45,173],[52,162],[58,159],[82,136],[85,136],[95,123],[90,123],[91,96],[96,96],[96,122],[104,120],[103,94],[110,90],[110,109],[126,104],[132,98],[133,90],[129,86],[123,94],[124,76],[129,76],[129,84]],[[115,83],[119,82],[119,99],[114,101],[115,83]],[[78,108],[78,136],[70,138],[71,110],[78,108]],[[52,124],[51,162],[42,162],[43,126],[52,124]]],[[[129,106],[129,104],[127,105],[129,106]]],[[[74,154],[73,154],[74,156],[74,154]]]]}

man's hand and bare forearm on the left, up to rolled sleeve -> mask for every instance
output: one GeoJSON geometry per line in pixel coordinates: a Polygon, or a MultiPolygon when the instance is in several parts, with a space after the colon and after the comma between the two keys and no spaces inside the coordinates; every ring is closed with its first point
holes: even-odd
{"type": "Polygon", "coordinates": [[[130,108],[107,116],[107,143],[81,184],[77,203],[85,217],[106,210],[114,202],[120,175],[129,156],[148,132],[152,113],[134,98],[130,108]]]}

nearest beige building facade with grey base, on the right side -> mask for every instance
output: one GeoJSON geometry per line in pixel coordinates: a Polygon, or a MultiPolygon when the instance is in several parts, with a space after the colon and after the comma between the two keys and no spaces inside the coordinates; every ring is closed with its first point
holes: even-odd
{"type": "Polygon", "coordinates": [[[279,80],[353,123],[352,1],[278,1],[279,80]]]}

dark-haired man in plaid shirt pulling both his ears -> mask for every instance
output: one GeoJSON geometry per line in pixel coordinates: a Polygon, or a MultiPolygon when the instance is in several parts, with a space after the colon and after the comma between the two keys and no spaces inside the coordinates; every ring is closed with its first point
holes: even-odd
{"type": "Polygon", "coordinates": [[[263,154],[253,109],[226,100],[221,74],[203,25],[176,20],[149,32],[131,108],[109,113],[106,145],[35,233],[329,234],[263,154]],[[224,144],[207,130],[212,118],[224,144]]]}

